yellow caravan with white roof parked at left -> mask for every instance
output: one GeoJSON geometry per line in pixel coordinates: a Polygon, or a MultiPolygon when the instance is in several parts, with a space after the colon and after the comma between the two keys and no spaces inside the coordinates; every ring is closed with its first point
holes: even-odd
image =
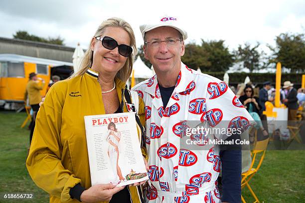
{"type": "Polygon", "coordinates": [[[25,86],[29,80],[28,75],[32,72],[37,73],[37,76],[46,82],[41,90],[41,95],[45,95],[51,75],[55,75],[55,67],[66,67],[69,74],[73,70],[73,64],[69,62],[0,54],[0,106],[5,109],[18,109],[23,106],[25,86]]]}

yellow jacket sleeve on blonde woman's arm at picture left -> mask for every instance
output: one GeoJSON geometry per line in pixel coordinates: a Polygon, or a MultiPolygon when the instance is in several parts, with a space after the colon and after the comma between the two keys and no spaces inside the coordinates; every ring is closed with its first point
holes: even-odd
{"type": "MultiPolygon", "coordinates": [[[[62,90],[61,86],[59,86],[62,90]]],[[[62,202],[71,201],[69,191],[81,180],[61,163],[63,146],[60,139],[61,113],[65,94],[49,91],[36,118],[36,125],[26,167],[34,183],[62,202]]]]}

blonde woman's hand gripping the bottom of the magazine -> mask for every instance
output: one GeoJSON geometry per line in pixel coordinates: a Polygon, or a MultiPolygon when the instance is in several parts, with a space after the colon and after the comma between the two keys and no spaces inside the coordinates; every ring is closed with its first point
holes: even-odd
{"type": "Polygon", "coordinates": [[[124,187],[116,188],[116,186],[117,185],[112,183],[92,186],[82,193],[80,199],[83,203],[99,203],[103,201],[110,201],[114,194],[124,189],[124,187]]]}

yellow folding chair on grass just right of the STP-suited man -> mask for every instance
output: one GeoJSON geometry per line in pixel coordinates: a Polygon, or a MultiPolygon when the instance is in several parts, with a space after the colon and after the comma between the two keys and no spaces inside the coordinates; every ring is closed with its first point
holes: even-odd
{"type": "MultiPolygon", "coordinates": [[[[247,172],[242,173],[242,181],[241,181],[241,188],[245,188],[245,186],[247,186],[247,188],[249,189],[250,193],[252,194],[252,196],[255,199],[254,203],[259,203],[259,199],[257,198],[257,196],[255,195],[255,193],[253,192],[252,188],[249,185],[249,181],[253,178],[254,174],[256,174],[256,172],[259,170],[259,168],[261,167],[264,157],[265,157],[265,153],[266,153],[266,149],[268,146],[268,142],[269,142],[269,138],[262,140],[262,141],[257,141],[255,144],[255,147],[252,151],[252,162],[251,162],[251,166],[249,168],[249,170],[247,172]],[[258,154],[262,153],[262,156],[258,162],[258,164],[256,165],[256,167],[254,166],[255,164],[255,160],[258,154]]],[[[245,199],[243,198],[243,196],[241,197],[242,202],[246,203],[245,199]]]]}

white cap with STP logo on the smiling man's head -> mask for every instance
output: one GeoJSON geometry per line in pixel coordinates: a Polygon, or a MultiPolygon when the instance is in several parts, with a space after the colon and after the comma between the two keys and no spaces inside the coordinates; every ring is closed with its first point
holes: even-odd
{"type": "Polygon", "coordinates": [[[148,24],[140,25],[140,30],[143,39],[146,32],[161,26],[168,26],[175,28],[181,33],[183,40],[187,38],[187,32],[184,29],[182,29],[182,26],[179,24],[179,20],[176,17],[163,15],[161,17],[154,19],[152,22],[149,22],[148,24]]]}

